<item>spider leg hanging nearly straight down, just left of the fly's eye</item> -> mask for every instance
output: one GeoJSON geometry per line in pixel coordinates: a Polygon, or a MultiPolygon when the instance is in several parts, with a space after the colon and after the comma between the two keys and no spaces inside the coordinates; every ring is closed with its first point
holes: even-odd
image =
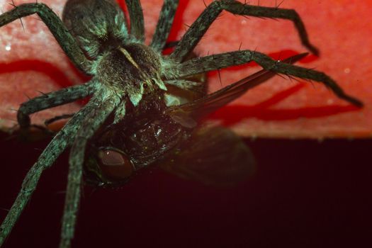
{"type": "Polygon", "coordinates": [[[80,202],[86,143],[94,135],[96,130],[101,127],[108,115],[118,106],[120,96],[105,89],[94,94],[91,102],[95,108],[84,116],[84,120],[79,126],[77,136],[69,154],[69,175],[64,201],[60,248],[70,247],[71,239],[74,237],[80,202]]]}

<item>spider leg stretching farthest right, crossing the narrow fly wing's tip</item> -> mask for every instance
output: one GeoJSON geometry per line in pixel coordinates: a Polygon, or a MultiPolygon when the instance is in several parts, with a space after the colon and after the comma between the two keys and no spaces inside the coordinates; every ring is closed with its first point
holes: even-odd
{"type": "Polygon", "coordinates": [[[164,69],[164,72],[167,72],[167,74],[164,74],[164,77],[167,77],[167,79],[182,78],[199,74],[201,72],[209,72],[215,69],[231,67],[232,65],[244,64],[252,61],[257,62],[257,64],[264,69],[271,72],[276,72],[277,74],[285,74],[287,76],[294,76],[301,79],[322,82],[339,98],[349,101],[355,106],[363,106],[361,101],[346,94],[342,88],[327,74],[318,72],[314,69],[298,67],[293,64],[276,61],[268,55],[251,50],[225,52],[218,55],[198,57],[187,60],[181,64],[172,64],[169,65],[169,68],[164,69]]]}

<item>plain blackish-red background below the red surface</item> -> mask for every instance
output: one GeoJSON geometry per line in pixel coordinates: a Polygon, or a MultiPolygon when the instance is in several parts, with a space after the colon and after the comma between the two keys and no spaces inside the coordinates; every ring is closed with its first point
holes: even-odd
{"type": "MultiPolygon", "coordinates": [[[[0,208],[47,142],[1,136],[0,208]]],[[[160,169],[85,187],[73,247],[372,247],[372,140],[247,140],[257,174],[211,188],[160,169]]],[[[45,171],[4,247],[57,247],[67,152],[45,171]]],[[[4,219],[6,210],[0,210],[4,219]]]]}

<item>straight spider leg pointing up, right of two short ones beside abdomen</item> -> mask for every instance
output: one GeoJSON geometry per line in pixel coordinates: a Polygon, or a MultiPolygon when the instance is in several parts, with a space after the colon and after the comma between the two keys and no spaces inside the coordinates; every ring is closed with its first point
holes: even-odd
{"type": "Polygon", "coordinates": [[[176,15],[177,6],[179,6],[179,0],[165,0],[160,11],[159,21],[157,21],[157,28],[150,47],[157,52],[162,52],[167,43],[167,38],[171,32],[171,25],[176,15]]]}

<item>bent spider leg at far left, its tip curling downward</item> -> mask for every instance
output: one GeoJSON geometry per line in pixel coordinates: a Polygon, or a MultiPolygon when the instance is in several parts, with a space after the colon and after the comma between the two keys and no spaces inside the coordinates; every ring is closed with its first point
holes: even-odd
{"type": "Polygon", "coordinates": [[[17,120],[21,128],[30,127],[30,114],[53,108],[66,103],[72,103],[86,96],[90,96],[96,90],[96,81],[92,79],[86,84],[70,86],[59,91],[53,91],[43,96],[38,96],[21,104],[18,108],[17,120]]]}

